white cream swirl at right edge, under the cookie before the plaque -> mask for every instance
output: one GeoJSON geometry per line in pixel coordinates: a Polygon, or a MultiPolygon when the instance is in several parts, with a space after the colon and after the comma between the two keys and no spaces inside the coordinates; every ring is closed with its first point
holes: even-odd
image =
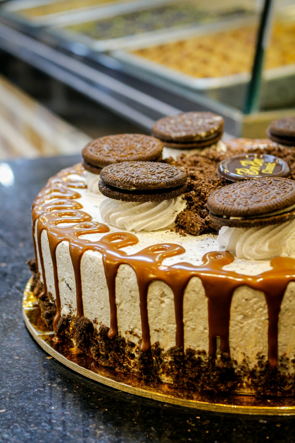
{"type": "Polygon", "coordinates": [[[238,258],[248,260],[295,257],[295,220],[256,228],[222,226],[217,244],[238,258]]]}

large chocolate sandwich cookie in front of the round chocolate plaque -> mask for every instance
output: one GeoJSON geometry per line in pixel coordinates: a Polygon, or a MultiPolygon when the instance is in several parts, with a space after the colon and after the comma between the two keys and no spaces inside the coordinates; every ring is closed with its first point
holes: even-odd
{"type": "Polygon", "coordinates": [[[215,190],[207,201],[218,225],[250,228],[295,218],[295,181],[267,177],[232,183],[215,190]]]}

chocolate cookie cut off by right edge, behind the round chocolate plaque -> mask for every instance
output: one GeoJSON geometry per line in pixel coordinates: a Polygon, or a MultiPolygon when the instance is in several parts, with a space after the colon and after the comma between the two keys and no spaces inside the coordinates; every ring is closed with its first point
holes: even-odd
{"type": "Polygon", "coordinates": [[[273,121],[267,128],[267,135],[276,143],[295,146],[295,117],[273,121]]]}

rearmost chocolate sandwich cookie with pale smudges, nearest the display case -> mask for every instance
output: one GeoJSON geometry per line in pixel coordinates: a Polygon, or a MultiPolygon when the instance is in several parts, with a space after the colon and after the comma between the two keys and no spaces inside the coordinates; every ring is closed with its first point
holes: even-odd
{"type": "Polygon", "coordinates": [[[152,134],[167,148],[205,148],[221,139],[223,126],[224,120],[217,114],[187,112],[157,120],[152,134]]]}

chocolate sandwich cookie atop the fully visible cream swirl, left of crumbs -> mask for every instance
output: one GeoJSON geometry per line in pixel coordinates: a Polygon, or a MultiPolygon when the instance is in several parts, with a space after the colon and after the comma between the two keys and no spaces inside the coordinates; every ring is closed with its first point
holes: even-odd
{"type": "Polygon", "coordinates": [[[123,162],[104,167],[98,186],[114,200],[161,202],[183,194],[186,181],[185,171],[166,163],[123,162]]]}

